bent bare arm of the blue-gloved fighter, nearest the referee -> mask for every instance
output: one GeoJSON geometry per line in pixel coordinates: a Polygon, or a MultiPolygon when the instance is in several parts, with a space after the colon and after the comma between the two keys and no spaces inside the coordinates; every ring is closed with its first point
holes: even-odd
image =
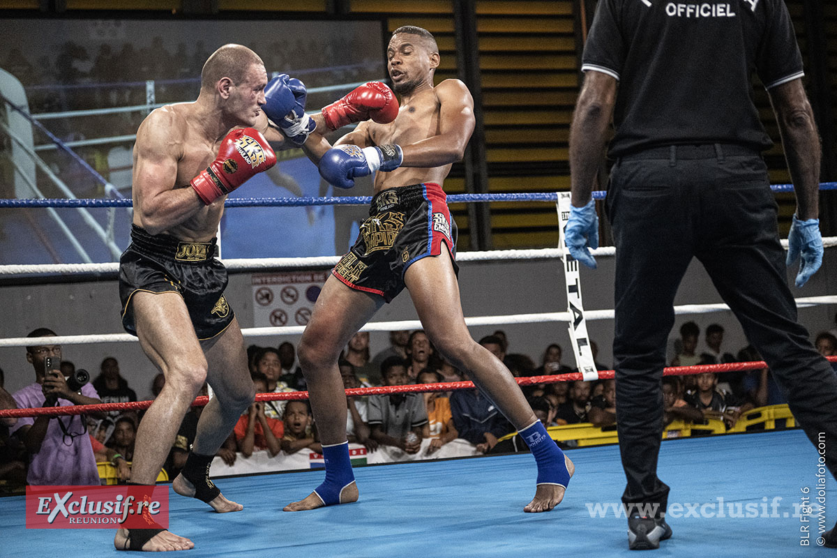
{"type": "Polygon", "coordinates": [[[401,146],[401,166],[444,166],[461,161],[474,133],[474,98],[459,79],[445,79],[436,86],[439,99],[439,134],[401,146]]]}

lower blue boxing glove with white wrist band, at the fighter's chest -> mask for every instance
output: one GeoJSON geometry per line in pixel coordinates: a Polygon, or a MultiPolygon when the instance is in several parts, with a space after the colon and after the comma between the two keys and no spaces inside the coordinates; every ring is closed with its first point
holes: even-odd
{"type": "Polygon", "coordinates": [[[401,147],[387,144],[377,147],[346,145],[332,147],[320,159],[320,176],[339,188],[351,188],[355,177],[367,177],[374,171],[394,171],[404,156],[401,147]]]}

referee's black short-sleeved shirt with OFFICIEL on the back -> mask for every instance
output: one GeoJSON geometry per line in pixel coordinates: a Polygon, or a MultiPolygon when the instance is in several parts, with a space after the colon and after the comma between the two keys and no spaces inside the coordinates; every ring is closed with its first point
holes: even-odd
{"type": "Polygon", "coordinates": [[[599,0],[582,71],[619,80],[610,155],[654,146],[773,146],[752,102],[803,75],[782,0],[599,0]]]}

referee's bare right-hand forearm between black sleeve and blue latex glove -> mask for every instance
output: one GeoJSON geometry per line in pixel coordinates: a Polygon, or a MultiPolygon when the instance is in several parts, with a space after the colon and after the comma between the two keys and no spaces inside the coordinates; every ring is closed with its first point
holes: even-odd
{"type": "Polygon", "coordinates": [[[821,148],[814,112],[805,95],[802,79],[793,79],[770,90],[770,102],[785,158],[788,160],[793,189],[796,192],[796,214],[799,219],[819,216],[819,159],[821,148]]]}

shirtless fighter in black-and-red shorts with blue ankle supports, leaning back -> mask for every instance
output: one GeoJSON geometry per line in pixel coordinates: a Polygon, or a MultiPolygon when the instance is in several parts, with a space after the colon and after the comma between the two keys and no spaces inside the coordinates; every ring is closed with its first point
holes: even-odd
{"type": "MultiPolygon", "coordinates": [[[[548,511],[561,502],[573,463],[549,438],[506,366],[471,338],[460,305],[456,223],[442,182],[454,161],[462,158],[474,131],[474,101],[458,79],[434,87],[439,49],[426,30],[396,29],[387,53],[393,88],[402,95],[400,110],[388,88],[366,84],[311,117],[316,131],[306,141],[306,153],[328,182],[348,188],[354,177],[378,172],[370,217],[326,281],[299,346],[323,443],[326,480],[285,511],[357,500],[337,358],[352,335],[404,287],[434,346],[454,366],[469,372],[526,439],[538,474],[535,498],[524,510],[548,511]],[[389,122],[393,115],[395,120],[389,122]],[[362,121],[331,149],[318,132],[369,117],[371,122],[362,121]]],[[[275,120],[270,88],[266,96],[264,110],[275,120]]],[[[496,439],[487,438],[486,443],[493,447],[496,439]]]]}

